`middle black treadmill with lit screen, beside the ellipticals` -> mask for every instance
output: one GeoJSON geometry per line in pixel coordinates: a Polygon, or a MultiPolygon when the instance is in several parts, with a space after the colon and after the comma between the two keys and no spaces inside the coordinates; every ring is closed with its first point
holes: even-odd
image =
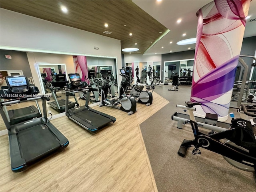
{"type": "Polygon", "coordinates": [[[115,122],[116,118],[108,114],[94,110],[88,106],[89,99],[86,99],[85,106],[68,109],[68,97],[74,96],[76,92],[86,92],[87,98],[90,98],[91,91],[96,91],[94,88],[86,87],[87,84],[81,81],[78,73],[68,74],[70,83],[67,84],[70,91],[66,92],[66,116],[76,122],[84,129],[91,133],[95,133],[108,125],[110,122],[115,122]],[[73,90],[73,91],[71,91],[73,90]]]}

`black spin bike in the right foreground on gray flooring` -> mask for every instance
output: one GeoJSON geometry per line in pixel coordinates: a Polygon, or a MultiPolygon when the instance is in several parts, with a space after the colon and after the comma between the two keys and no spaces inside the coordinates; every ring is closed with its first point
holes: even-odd
{"type": "MultiPolygon", "coordinates": [[[[184,139],[178,155],[184,157],[189,147],[194,146],[192,154],[201,154],[200,147],[221,154],[223,158],[232,166],[244,171],[256,171],[256,137],[252,130],[252,124],[248,120],[232,117],[232,126],[230,129],[221,132],[210,131],[204,134],[198,130],[198,126],[193,111],[195,105],[201,105],[197,102],[185,102],[185,106],[177,107],[188,110],[190,124],[192,126],[194,140],[184,139]]],[[[244,114],[256,117],[256,105],[241,105],[244,114]]]]}

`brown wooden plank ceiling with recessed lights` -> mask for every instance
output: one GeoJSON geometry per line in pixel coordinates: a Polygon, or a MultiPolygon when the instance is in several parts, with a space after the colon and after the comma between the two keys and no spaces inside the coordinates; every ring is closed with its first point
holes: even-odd
{"type": "Polygon", "coordinates": [[[0,7],[121,40],[122,49],[140,49],[132,53],[144,53],[168,30],[131,0],[6,0],[0,7]],[[61,5],[68,13],[62,12],[61,5]],[[106,30],[112,33],[104,34],[106,30]]]}

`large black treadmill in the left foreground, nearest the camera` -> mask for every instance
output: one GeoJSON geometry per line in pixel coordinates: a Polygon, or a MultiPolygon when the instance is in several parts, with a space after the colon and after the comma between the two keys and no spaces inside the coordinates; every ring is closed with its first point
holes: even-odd
{"type": "Polygon", "coordinates": [[[49,154],[66,148],[69,141],[47,118],[46,100],[49,98],[38,96],[38,88],[30,87],[26,76],[6,76],[6,82],[8,89],[1,90],[0,94],[1,98],[9,100],[1,101],[0,113],[8,129],[11,169],[20,172],[49,154]],[[10,125],[3,107],[34,100],[42,100],[44,116],[10,125]]]}

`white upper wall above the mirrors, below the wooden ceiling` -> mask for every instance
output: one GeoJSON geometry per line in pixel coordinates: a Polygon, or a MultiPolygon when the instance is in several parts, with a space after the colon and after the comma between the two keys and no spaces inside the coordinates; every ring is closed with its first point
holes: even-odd
{"type": "MultiPolygon", "coordinates": [[[[118,70],[122,68],[120,40],[2,8],[0,8],[0,48],[116,58],[118,70]],[[94,50],[94,46],[97,46],[99,50],[94,50]]],[[[32,58],[29,59],[32,62],[32,58]]],[[[30,67],[34,66],[30,65],[30,67]]],[[[70,70],[67,68],[67,71],[70,70]]],[[[34,76],[33,72],[32,75],[34,76]]],[[[121,81],[121,78],[119,79],[121,81]]]]}

